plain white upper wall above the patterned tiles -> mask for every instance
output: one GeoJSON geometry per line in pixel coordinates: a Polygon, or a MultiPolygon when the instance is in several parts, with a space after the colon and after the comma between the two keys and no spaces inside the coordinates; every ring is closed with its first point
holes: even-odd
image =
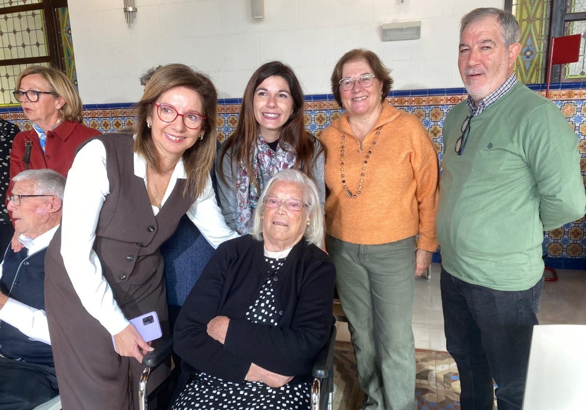
{"type": "Polygon", "coordinates": [[[220,98],[241,97],[261,63],[282,60],[306,94],[331,93],[329,77],[350,49],[373,50],[392,69],[394,89],[461,87],[458,22],[503,0],[135,0],[125,23],[122,0],[69,0],[81,98],[86,104],[131,102],[149,67],[183,63],[212,77],[220,98]],[[421,39],[383,42],[383,23],[421,20],[421,39]]]}

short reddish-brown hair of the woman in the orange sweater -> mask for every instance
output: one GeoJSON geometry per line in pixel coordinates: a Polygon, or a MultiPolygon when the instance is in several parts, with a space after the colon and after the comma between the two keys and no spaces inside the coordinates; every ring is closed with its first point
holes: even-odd
{"type": "Polygon", "coordinates": [[[380,61],[379,56],[370,50],[350,50],[338,60],[336,66],[333,67],[332,77],[330,78],[330,81],[332,82],[333,98],[335,98],[340,107],[342,107],[342,98],[340,98],[339,82],[342,80],[342,70],[344,68],[344,64],[360,60],[364,60],[372,69],[374,77],[378,78],[381,83],[383,83],[383,92],[380,96],[380,102],[384,101],[384,99],[389,94],[391,87],[393,87],[393,78],[391,78],[390,74],[391,70],[387,69],[383,62],[380,61]]]}

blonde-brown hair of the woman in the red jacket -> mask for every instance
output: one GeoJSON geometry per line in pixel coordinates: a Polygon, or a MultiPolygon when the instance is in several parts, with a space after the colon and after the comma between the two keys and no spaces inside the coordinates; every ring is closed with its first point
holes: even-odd
{"type": "Polygon", "coordinates": [[[59,108],[59,119],[62,121],[83,122],[83,117],[81,115],[83,104],[81,104],[81,98],[79,97],[76,88],[73,86],[73,83],[71,83],[65,74],[57,69],[53,69],[53,67],[26,67],[26,69],[22,70],[21,74],[19,74],[18,78],[16,78],[16,90],[21,88],[22,79],[30,74],[39,74],[40,76],[43,76],[51,88],[51,90],[47,91],[53,93],[55,98],[62,97],[63,100],[65,100],[63,107],[59,108]]]}

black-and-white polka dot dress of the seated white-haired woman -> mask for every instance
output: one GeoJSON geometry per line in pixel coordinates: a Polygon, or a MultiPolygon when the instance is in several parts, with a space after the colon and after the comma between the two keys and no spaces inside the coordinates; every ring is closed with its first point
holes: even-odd
{"type": "MultiPolygon", "coordinates": [[[[278,270],[285,259],[265,257],[265,261],[270,268],[270,276],[258,292],[256,300],[248,307],[246,319],[253,323],[277,326],[279,315],[272,285],[278,280],[278,270]]],[[[311,383],[271,388],[260,381],[225,382],[200,372],[191,375],[188,385],[173,405],[173,410],[306,410],[310,407],[310,391],[311,383]]]]}

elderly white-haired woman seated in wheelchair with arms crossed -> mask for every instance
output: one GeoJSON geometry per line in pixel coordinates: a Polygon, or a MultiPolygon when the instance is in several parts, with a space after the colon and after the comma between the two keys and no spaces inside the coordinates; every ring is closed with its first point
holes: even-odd
{"type": "Polygon", "coordinates": [[[173,409],[308,409],[332,329],[335,268],[318,190],[297,170],[258,199],[253,233],[224,242],[179,313],[183,387],[173,409]]]}

